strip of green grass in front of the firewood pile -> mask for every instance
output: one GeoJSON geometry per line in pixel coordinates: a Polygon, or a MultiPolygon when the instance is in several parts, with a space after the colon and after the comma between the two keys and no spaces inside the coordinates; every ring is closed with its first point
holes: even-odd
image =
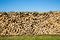
{"type": "Polygon", "coordinates": [[[60,40],[60,36],[0,36],[0,40],[60,40]]]}

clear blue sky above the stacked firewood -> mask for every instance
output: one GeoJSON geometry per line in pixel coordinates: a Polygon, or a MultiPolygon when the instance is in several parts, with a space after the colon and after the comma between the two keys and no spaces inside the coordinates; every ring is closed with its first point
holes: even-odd
{"type": "Polygon", "coordinates": [[[0,11],[60,10],[60,0],[0,0],[0,11]]]}

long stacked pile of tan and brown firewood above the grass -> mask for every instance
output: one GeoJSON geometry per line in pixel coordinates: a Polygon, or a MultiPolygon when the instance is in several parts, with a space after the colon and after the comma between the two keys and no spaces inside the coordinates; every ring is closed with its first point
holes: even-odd
{"type": "Polygon", "coordinates": [[[60,34],[60,12],[0,12],[0,35],[60,34]]]}

